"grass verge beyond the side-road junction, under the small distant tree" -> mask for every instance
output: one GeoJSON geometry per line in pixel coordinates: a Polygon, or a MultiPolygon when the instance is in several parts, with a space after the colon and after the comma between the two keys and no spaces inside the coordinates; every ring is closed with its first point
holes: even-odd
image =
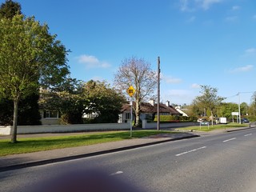
{"type": "Polygon", "coordinates": [[[231,128],[241,128],[246,127],[249,125],[246,124],[239,124],[239,123],[228,123],[228,124],[218,124],[214,125],[213,127],[211,125],[208,126],[187,126],[178,128],[177,130],[198,130],[198,131],[211,131],[211,130],[227,130],[231,128]]]}

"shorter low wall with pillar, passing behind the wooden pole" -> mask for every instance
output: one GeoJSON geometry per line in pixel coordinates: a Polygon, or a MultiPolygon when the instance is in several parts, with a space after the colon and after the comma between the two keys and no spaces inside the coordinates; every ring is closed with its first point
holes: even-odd
{"type": "MultiPolygon", "coordinates": [[[[170,123],[160,123],[161,128],[178,128],[182,126],[195,126],[197,125],[194,122],[170,122],[170,123]]],[[[157,122],[146,122],[146,120],[142,121],[143,129],[154,129],[157,128],[157,122]]]]}

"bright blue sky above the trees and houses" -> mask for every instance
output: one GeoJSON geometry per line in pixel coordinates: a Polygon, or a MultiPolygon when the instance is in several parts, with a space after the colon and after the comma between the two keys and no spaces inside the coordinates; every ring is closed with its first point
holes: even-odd
{"type": "MultiPolygon", "coordinates": [[[[0,0],[0,2],[4,2],[0,0]]],[[[19,0],[71,50],[72,78],[113,82],[124,58],[157,69],[161,101],[190,104],[199,85],[226,102],[250,103],[256,90],[254,0],[19,0]]]]}

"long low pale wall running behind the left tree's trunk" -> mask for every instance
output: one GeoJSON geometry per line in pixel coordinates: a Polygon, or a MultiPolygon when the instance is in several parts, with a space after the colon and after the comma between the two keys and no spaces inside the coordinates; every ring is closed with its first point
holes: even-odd
{"type": "MultiPolygon", "coordinates": [[[[128,130],[129,123],[98,123],[77,125],[18,126],[18,134],[64,133],[90,130],[128,130]]],[[[0,126],[0,134],[10,135],[11,126],[0,126]]]]}

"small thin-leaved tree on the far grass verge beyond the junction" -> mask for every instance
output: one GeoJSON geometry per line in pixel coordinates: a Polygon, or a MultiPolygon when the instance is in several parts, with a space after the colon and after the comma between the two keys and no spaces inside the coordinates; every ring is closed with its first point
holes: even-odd
{"type": "Polygon", "coordinates": [[[218,89],[211,86],[201,86],[201,95],[196,97],[194,100],[198,102],[199,106],[210,110],[212,126],[214,126],[214,111],[216,111],[217,106],[225,99],[218,96],[218,89]]]}

